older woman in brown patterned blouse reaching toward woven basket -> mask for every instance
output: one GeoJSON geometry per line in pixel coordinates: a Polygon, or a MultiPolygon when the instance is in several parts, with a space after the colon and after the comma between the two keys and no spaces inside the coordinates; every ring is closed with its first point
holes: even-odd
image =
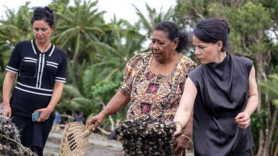
{"type": "MultiPolygon", "coordinates": [[[[186,55],[181,54],[188,44],[188,35],[179,31],[171,21],[156,24],[152,34],[151,51],[133,56],[126,64],[124,81],[117,93],[108,102],[104,110],[86,123],[94,124],[92,130],[109,116],[131,102],[127,120],[142,116],[154,119],[174,119],[186,75],[197,66],[186,55]]],[[[192,122],[188,122],[183,135],[174,140],[174,151],[185,155],[192,134],[192,122]]]]}

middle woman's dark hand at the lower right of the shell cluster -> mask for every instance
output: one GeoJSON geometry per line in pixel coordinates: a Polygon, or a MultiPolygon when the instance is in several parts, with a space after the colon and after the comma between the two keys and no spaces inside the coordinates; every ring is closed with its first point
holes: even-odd
{"type": "Polygon", "coordinates": [[[189,139],[181,135],[176,139],[174,139],[173,142],[174,153],[176,153],[176,155],[181,154],[183,150],[186,150],[186,148],[188,148],[188,142],[189,139]]]}

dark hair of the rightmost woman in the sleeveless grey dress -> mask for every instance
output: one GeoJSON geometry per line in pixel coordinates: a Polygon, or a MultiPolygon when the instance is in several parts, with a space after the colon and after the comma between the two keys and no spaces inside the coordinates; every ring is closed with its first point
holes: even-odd
{"type": "Polygon", "coordinates": [[[224,52],[229,47],[228,37],[230,33],[230,26],[226,20],[215,17],[202,19],[195,26],[193,35],[206,43],[215,44],[222,41],[221,51],[224,52]]]}

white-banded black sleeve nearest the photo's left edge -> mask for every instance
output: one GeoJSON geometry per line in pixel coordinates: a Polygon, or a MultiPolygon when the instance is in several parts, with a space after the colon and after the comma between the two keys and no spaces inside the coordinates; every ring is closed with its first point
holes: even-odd
{"type": "Polygon", "coordinates": [[[6,71],[11,71],[13,73],[18,73],[20,67],[20,44],[15,45],[12,55],[10,55],[10,60],[6,67],[6,71]]]}

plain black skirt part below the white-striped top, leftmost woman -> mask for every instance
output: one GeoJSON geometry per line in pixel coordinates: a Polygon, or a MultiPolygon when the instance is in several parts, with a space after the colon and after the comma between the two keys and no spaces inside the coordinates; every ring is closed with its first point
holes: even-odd
{"type": "Polygon", "coordinates": [[[50,100],[51,96],[23,92],[15,88],[10,98],[10,107],[12,108],[12,121],[19,130],[23,146],[44,148],[54,123],[55,114],[51,112],[49,119],[38,123],[37,121],[32,121],[32,113],[35,110],[47,107],[50,100]]]}

